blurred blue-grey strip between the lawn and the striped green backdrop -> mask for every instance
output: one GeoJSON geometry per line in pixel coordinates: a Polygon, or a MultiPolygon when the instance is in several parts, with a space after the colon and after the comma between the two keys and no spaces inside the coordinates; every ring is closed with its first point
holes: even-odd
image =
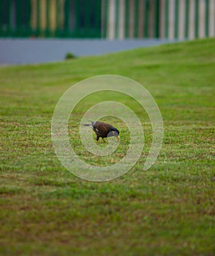
{"type": "MultiPolygon", "coordinates": [[[[0,39],[0,64],[61,61],[67,52],[95,56],[170,42],[165,39],[0,39]]],[[[172,41],[173,42],[173,41],[172,41]]]]}

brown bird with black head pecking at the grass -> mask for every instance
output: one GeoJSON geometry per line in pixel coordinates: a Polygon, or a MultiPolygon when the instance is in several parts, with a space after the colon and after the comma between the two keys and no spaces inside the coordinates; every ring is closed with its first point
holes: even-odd
{"type": "Polygon", "coordinates": [[[91,124],[83,124],[85,127],[92,127],[93,131],[96,134],[96,141],[99,138],[102,138],[103,141],[106,143],[104,138],[107,137],[117,137],[118,141],[120,141],[120,131],[113,127],[112,124],[106,124],[101,121],[91,121],[91,124]]]}

